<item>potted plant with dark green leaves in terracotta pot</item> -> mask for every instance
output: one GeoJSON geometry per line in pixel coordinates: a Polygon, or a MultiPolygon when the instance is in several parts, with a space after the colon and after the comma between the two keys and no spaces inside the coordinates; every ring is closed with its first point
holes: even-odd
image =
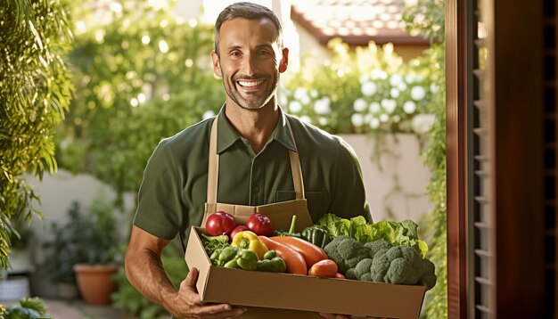
{"type": "Polygon", "coordinates": [[[116,284],[111,276],[117,271],[115,247],[117,230],[111,206],[95,199],[89,214],[81,212],[78,202],[68,210],[69,222],[53,224],[54,241],[46,244],[53,248],[49,264],[53,267],[53,280],[76,283],[86,303],[111,303],[116,284]]]}

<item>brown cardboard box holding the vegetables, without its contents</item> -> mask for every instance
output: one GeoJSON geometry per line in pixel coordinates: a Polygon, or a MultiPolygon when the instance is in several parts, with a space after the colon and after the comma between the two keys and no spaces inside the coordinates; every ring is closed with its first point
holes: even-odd
{"type": "Polygon", "coordinates": [[[317,312],[417,318],[423,307],[426,287],[421,285],[360,282],[213,266],[200,240],[199,233],[204,232],[203,228],[193,227],[185,254],[188,266],[200,270],[197,289],[203,301],[259,307],[250,308],[246,313],[259,318],[273,317],[259,314],[266,310],[263,308],[305,312],[276,316],[283,318],[319,317],[317,312]]]}

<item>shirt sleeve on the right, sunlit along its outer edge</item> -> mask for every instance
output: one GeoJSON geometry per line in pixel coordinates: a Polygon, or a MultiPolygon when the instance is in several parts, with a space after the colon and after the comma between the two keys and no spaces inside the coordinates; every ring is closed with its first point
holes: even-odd
{"type": "Polygon", "coordinates": [[[330,210],[339,217],[363,216],[366,221],[372,222],[357,154],[341,137],[339,146],[339,154],[334,166],[335,183],[331,194],[330,210]]]}

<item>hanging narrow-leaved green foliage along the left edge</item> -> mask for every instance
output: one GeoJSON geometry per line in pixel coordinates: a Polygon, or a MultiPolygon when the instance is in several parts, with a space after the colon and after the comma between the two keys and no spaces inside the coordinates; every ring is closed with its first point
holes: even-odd
{"type": "Polygon", "coordinates": [[[66,6],[6,0],[0,6],[0,266],[7,267],[10,220],[32,217],[37,196],[21,178],[56,169],[53,135],[70,103],[64,62],[71,40],[66,6]]]}

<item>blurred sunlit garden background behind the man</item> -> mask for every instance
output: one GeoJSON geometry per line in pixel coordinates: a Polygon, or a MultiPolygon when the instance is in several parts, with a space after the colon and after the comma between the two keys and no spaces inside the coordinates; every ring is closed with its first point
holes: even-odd
{"type": "MultiPolygon", "coordinates": [[[[74,265],[116,265],[111,307],[165,316],[124,274],[135,196],[160,139],[225,101],[209,53],[233,1],[2,1],[0,300],[84,298],[74,265]]],[[[255,2],[291,49],[283,110],[355,148],[375,221],[419,224],[439,276],[423,315],[447,317],[444,2],[255,2]]],[[[185,278],[179,245],[163,261],[185,278]]]]}

